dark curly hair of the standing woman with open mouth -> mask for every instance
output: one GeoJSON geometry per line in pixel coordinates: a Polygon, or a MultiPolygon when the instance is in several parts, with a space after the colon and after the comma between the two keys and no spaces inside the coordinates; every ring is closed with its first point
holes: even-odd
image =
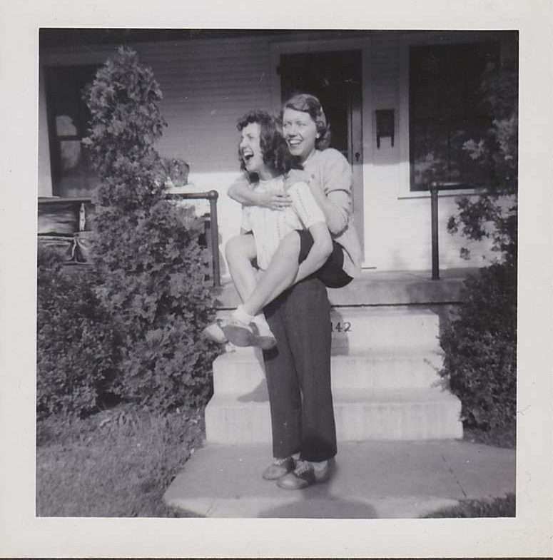
{"type": "MultiPolygon", "coordinates": [[[[284,175],[290,169],[303,169],[300,159],[288,150],[282,133],[282,123],[267,111],[250,111],[238,121],[237,128],[242,131],[250,123],[257,123],[260,128],[259,146],[263,153],[263,163],[272,169],[276,175],[284,175]]],[[[245,171],[244,161],[238,149],[240,170],[245,171]]],[[[259,180],[257,173],[248,173],[248,178],[255,183],[259,180]]]]}

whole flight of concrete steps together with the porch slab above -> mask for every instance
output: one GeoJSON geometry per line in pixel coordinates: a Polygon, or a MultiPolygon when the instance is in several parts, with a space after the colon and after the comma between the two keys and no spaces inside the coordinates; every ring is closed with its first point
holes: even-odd
{"type": "MultiPolygon", "coordinates": [[[[460,303],[463,280],[475,269],[365,270],[338,290],[332,305],[332,372],[338,438],[342,441],[462,437],[460,400],[441,387],[440,329],[460,303]]],[[[239,304],[223,281],[218,315],[239,304]]],[[[213,363],[214,394],[206,408],[208,442],[270,441],[260,352],[228,345],[213,363]]]]}

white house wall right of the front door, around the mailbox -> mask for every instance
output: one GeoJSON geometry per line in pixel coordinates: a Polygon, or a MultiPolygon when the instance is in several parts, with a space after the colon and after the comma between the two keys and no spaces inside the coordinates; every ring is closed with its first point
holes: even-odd
{"type": "MultiPolygon", "coordinates": [[[[408,49],[421,42],[477,41],[489,34],[375,33],[370,40],[370,122],[365,121],[365,264],[378,270],[426,270],[431,267],[430,195],[410,192],[408,49]],[[395,141],[376,146],[373,116],[377,109],[395,111],[395,141]]],[[[463,194],[466,194],[464,191],[463,194]]],[[[440,268],[481,266],[493,258],[490,244],[469,242],[447,232],[455,213],[455,193],[439,197],[440,268]],[[470,248],[470,260],[460,249],[470,248]]]]}

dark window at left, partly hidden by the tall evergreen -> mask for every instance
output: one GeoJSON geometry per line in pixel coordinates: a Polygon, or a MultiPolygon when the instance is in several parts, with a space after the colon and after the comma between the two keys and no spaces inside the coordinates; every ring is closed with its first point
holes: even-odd
{"type": "Polygon", "coordinates": [[[64,66],[45,71],[52,191],[57,196],[88,196],[98,184],[81,144],[90,119],[82,93],[96,68],[64,66]]]}

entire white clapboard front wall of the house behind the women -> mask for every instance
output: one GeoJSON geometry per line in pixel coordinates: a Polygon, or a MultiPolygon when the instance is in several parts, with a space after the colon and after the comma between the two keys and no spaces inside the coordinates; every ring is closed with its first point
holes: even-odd
{"type": "MultiPolygon", "coordinates": [[[[215,189],[220,193],[218,218],[222,247],[238,232],[240,223],[240,206],[226,195],[228,185],[238,173],[238,118],[251,108],[278,108],[275,53],[289,51],[291,42],[301,45],[309,41],[316,45],[320,39],[332,39],[333,48],[339,48],[341,37],[340,33],[318,32],[297,34],[293,41],[290,37],[256,36],[133,45],[141,60],[153,69],[163,91],[161,108],[168,127],[159,142],[159,151],[164,156],[188,161],[189,180],[198,190],[215,189]]],[[[466,38],[457,35],[454,40],[466,38]]],[[[343,41],[344,48],[353,44],[363,54],[366,268],[426,270],[431,265],[430,198],[425,193],[409,191],[407,52],[410,43],[420,40],[440,39],[429,38],[428,34],[356,32],[348,34],[347,41],[343,41]],[[390,139],[385,138],[380,148],[376,148],[373,116],[380,108],[395,110],[393,147],[390,139]]],[[[106,46],[53,50],[41,54],[41,64],[102,63],[111,53],[113,47],[106,46]]],[[[47,137],[43,130],[44,103],[40,103],[39,109],[42,142],[47,137]]],[[[49,166],[48,158],[42,154],[39,177],[41,188],[46,189],[49,166]]],[[[472,258],[467,262],[459,256],[460,247],[467,245],[466,240],[447,233],[447,218],[455,212],[455,197],[440,196],[439,210],[440,266],[481,265],[482,258],[490,255],[486,243],[472,243],[472,258]]]]}

